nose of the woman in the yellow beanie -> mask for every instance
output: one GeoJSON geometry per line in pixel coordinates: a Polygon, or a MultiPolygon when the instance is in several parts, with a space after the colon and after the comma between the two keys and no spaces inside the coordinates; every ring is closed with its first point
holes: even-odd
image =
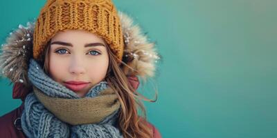
{"type": "Polygon", "coordinates": [[[69,72],[73,75],[82,75],[85,71],[85,64],[84,60],[82,60],[82,57],[71,57],[69,72]]]}

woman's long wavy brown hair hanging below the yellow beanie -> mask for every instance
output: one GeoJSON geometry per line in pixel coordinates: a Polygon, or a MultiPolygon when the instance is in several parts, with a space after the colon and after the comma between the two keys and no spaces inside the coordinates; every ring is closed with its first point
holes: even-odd
{"type": "MultiPolygon", "coordinates": [[[[148,99],[137,92],[129,83],[125,72],[123,72],[123,66],[127,66],[125,61],[118,63],[117,57],[111,52],[109,46],[106,43],[107,52],[109,55],[109,68],[105,80],[109,83],[109,86],[116,91],[118,99],[121,104],[120,115],[118,118],[118,125],[123,133],[123,137],[128,138],[152,138],[153,132],[148,126],[147,116],[145,113],[145,107],[141,100],[154,102],[157,101],[157,91],[155,93],[155,100],[148,99]],[[142,116],[139,116],[138,110],[141,110],[142,116]]],[[[47,44],[44,52],[44,72],[48,75],[48,63],[50,43],[47,44]]],[[[128,59],[129,60],[129,59],[128,59]]]]}

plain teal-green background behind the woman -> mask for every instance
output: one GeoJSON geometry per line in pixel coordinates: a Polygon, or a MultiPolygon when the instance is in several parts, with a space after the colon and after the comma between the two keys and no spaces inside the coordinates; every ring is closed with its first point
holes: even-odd
{"type": "MultiPolygon", "coordinates": [[[[4,42],[44,1],[0,1],[4,42]]],[[[277,137],[276,0],[114,0],[134,17],[163,56],[141,87],[148,118],[163,137],[277,137]],[[152,83],[151,83],[152,82],[152,83]]],[[[16,108],[1,79],[0,115],[16,108]]]]}

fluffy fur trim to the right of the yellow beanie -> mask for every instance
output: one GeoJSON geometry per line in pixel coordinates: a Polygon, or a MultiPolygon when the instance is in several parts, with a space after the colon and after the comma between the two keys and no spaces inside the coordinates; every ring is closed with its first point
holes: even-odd
{"type": "Polygon", "coordinates": [[[123,12],[118,12],[118,14],[125,41],[123,54],[123,61],[127,63],[127,66],[123,66],[125,75],[135,75],[144,80],[147,77],[154,77],[155,63],[160,59],[157,50],[154,49],[154,43],[148,41],[138,25],[133,25],[133,19],[127,14],[123,12]]]}

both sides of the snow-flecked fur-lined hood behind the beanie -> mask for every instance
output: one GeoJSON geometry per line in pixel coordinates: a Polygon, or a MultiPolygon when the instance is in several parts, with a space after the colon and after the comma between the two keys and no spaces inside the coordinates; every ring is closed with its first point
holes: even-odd
{"type": "MultiPolygon", "coordinates": [[[[141,33],[139,26],[133,25],[133,20],[123,12],[118,12],[123,28],[125,48],[123,66],[125,75],[136,76],[143,80],[154,77],[155,63],[159,60],[154,43],[148,41],[148,37],[141,33]]],[[[33,31],[34,23],[27,26],[19,25],[17,30],[10,32],[6,43],[1,46],[0,68],[4,77],[8,77],[12,83],[30,85],[28,81],[28,63],[33,57],[33,31]]]]}

